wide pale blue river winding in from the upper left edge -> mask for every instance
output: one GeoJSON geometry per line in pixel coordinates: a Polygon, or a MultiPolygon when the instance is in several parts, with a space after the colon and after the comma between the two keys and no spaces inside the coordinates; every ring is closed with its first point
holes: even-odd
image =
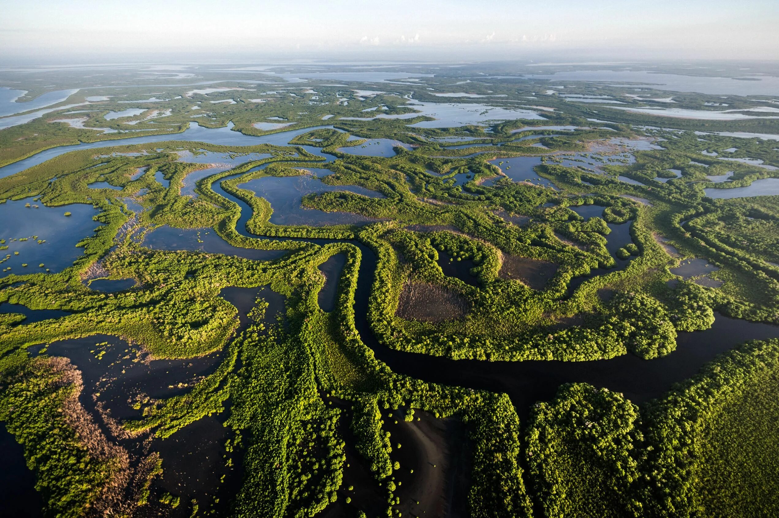
{"type": "MultiPolygon", "coordinates": [[[[10,163],[7,166],[0,167],[0,178],[7,177],[9,175],[19,173],[19,171],[26,170],[32,166],[37,166],[40,163],[46,162],[48,159],[52,159],[55,156],[60,156],[66,152],[76,151],[78,149],[100,149],[109,148],[116,145],[135,145],[135,144],[148,144],[152,142],[170,142],[170,141],[185,141],[185,142],[205,142],[206,144],[216,145],[231,145],[231,146],[244,146],[244,145],[259,145],[259,144],[271,144],[271,145],[288,145],[288,142],[292,138],[308,133],[315,129],[330,128],[332,126],[314,126],[311,128],[300,128],[290,131],[279,131],[270,135],[263,135],[262,137],[255,137],[252,135],[244,135],[240,131],[232,131],[231,128],[234,124],[227,124],[224,128],[205,128],[199,124],[192,122],[189,124],[189,128],[182,133],[166,134],[166,135],[145,135],[143,137],[129,137],[118,138],[115,140],[104,140],[100,142],[83,142],[81,144],[74,145],[61,145],[56,148],[46,149],[41,152],[37,152],[33,156],[26,159],[19,160],[14,163],[10,163]]],[[[335,157],[332,155],[326,155],[321,149],[315,148],[311,145],[299,146],[316,156],[321,156],[330,161],[335,157]]]]}

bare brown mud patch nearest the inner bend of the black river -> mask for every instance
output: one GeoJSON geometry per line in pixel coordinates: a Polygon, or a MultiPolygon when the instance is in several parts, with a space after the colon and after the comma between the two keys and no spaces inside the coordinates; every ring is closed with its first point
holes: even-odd
{"type": "Polygon", "coordinates": [[[406,320],[441,322],[464,317],[469,304],[464,296],[432,284],[404,285],[395,314],[406,320]]]}

